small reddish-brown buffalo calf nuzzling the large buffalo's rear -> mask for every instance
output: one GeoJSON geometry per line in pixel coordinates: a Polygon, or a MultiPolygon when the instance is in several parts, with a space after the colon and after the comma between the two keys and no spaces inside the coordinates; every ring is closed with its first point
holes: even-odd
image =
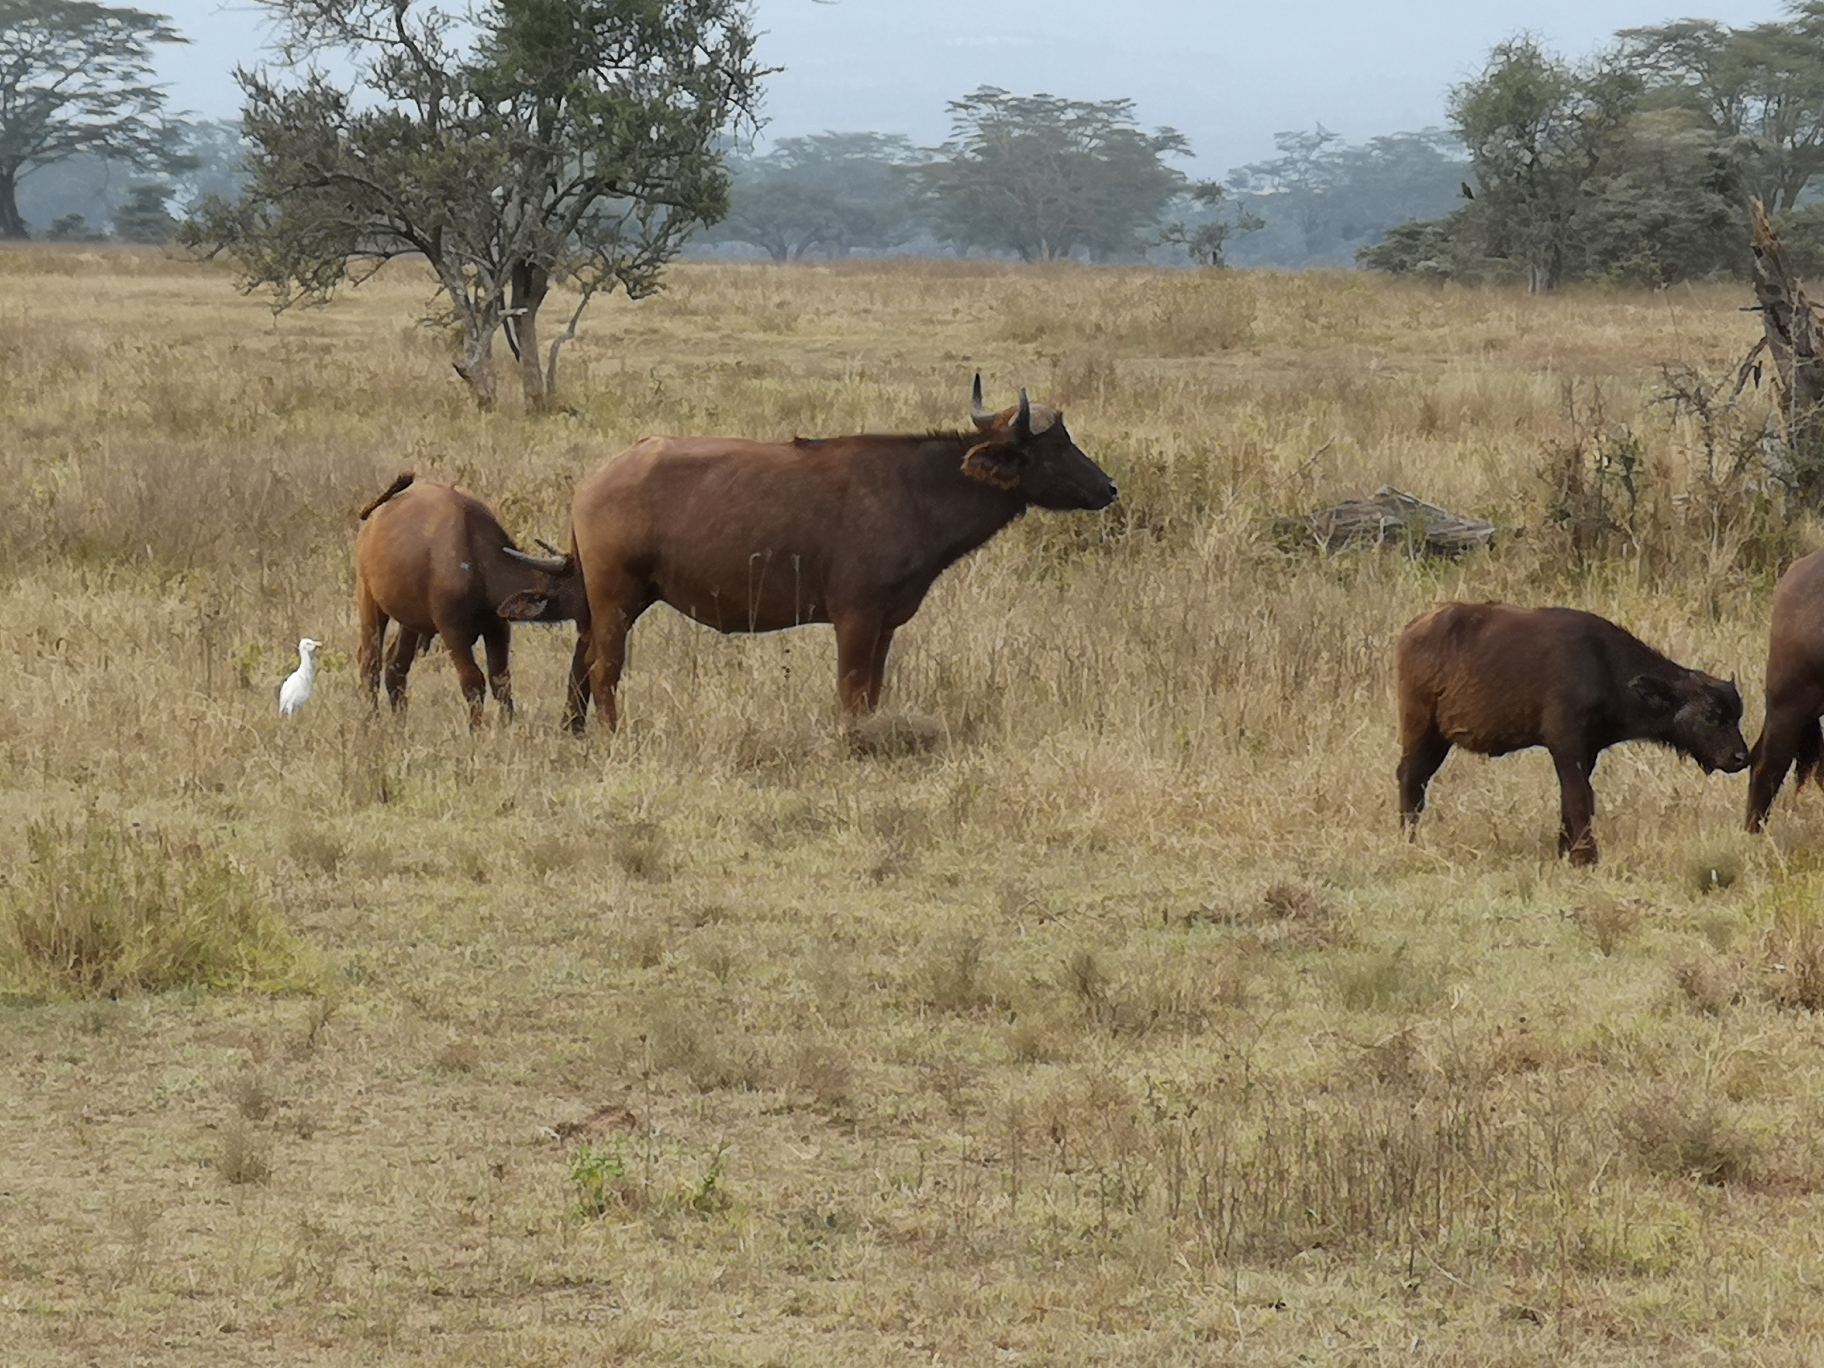
{"type": "Polygon", "coordinates": [[[412,658],[441,637],[456,662],[469,700],[469,724],[482,724],[482,704],[494,689],[502,719],[513,717],[509,649],[513,624],[500,606],[514,598],[520,620],[571,622],[586,611],[582,580],[569,556],[527,556],[513,545],[489,507],[454,485],[401,474],[361,509],[354,542],[356,609],[361,684],[379,699],[387,622],[398,622],[385,651],[387,697],[405,706],[412,658]],[[487,679],[474,664],[474,642],[487,648],[487,679]]]}

